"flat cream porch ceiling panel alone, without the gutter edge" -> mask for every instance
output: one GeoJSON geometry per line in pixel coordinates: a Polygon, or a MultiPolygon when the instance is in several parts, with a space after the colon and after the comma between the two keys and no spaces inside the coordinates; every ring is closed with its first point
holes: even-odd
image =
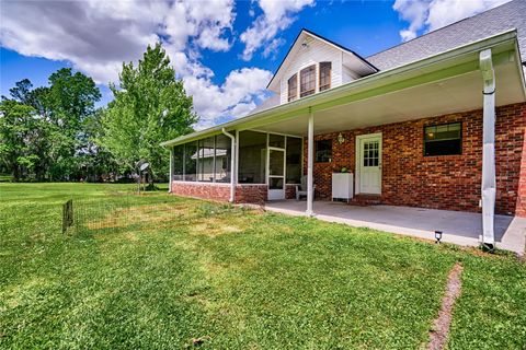
{"type": "MultiPolygon", "coordinates": [[[[522,72],[508,61],[495,67],[496,105],[525,101],[522,72]]],[[[315,113],[315,133],[352,130],[456,112],[482,108],[482,77],[479,70],[409,88],[315,113]]],[[[307,135],[307,115],[259,129],[307,135]]]]}

